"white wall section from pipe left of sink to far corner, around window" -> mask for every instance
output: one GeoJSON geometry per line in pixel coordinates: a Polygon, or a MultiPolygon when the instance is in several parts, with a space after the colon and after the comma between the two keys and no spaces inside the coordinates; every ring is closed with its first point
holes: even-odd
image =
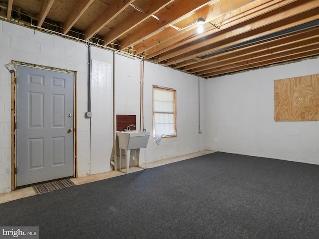
{"type": "MultiPolygon", "coordinates": [[[[138,59],[115,55],[116,114],[136,115],[137,130],[140,128],[140,66],[138,59]]],[[[206,80],[200,79],[200,82],[202,134],[198,133],[198,77],[144,63],[144,129],[151,132],[145,149],[147,162],[206,150],[206,80]],[[173,88],[177,92],[177,137],[163,138],[160,145],[152,137],[153,85],[173,88]]],[[[140,163],[144,163],[143,152],[140,153],[140,163]]]]}

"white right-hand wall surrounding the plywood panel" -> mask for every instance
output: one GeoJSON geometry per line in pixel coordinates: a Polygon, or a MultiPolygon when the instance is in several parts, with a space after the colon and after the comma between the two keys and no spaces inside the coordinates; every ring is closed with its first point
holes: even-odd
{"type": "Polygon", "coordinates": [[[274,80],[318,66],[319,58],[208,79],[208,149],[319,164],[318,121],[274,121],[274,80]]]}

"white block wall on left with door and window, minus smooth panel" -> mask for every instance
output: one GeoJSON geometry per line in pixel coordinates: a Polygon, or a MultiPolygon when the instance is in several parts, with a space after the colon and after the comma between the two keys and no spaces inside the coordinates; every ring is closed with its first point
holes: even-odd
{"type": "MultiPolygon", "coordinates": [[[[113,65],[113,52],[92,46],[91,58],[113,65]]],[[[4,64],[11,60],[77,72],[78,176],[90,172],[90,119],[87,112],[87,46],[63,37],[39,32],[0,20],[0,193],[11,191],[11,75],[4,64]]],[[[137,115],[139,122],[140,60],[115,55],[115,114],[137,115]]],[[[146,148],[147,162],[205,150],[206,80],[200,79],[201,128],[198,133],[198,78],[160,65],[145,63],[144,125],[152,131],[152,85],[177,90],[177,138],[157,145],[152,137],[146,148]]],[[[106,109],[113,114],[112,109],[106,109]]],[[[92,112],[92,117],[94,116],[92,112]]],[[[137,122],[137,124],[138,124],[137,122]]],[[[139,124],[137,125],[139,129],[139,124]]],[[[106,147],[110,160],[113,135],[106,147]]],[[[105,155],[103,155],[105,157],[105,155]]],[[[143,154],[142,154],[143,157],[143,154]]],[[[143,158],[142,158],[143,160],[143,158]]],[[[104,166],[109,171],[109,166],[104,166]]]]}

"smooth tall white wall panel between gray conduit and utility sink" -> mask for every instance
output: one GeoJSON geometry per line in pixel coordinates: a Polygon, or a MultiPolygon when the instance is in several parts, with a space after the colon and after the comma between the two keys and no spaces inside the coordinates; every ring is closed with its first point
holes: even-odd
{"type": "Polygon", "coordinates": [[[113,139],[112,65],[92,60],[90,174],[108,172],[113,139]]]}

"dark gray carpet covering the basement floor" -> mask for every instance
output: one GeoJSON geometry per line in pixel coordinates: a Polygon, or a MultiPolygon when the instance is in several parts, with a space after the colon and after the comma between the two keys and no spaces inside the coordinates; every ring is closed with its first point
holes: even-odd
{"type": "Polygon", "coordinates": [[[40,239],[318,239],[319,166],[212,153],[0,204],[40,239]]]}

